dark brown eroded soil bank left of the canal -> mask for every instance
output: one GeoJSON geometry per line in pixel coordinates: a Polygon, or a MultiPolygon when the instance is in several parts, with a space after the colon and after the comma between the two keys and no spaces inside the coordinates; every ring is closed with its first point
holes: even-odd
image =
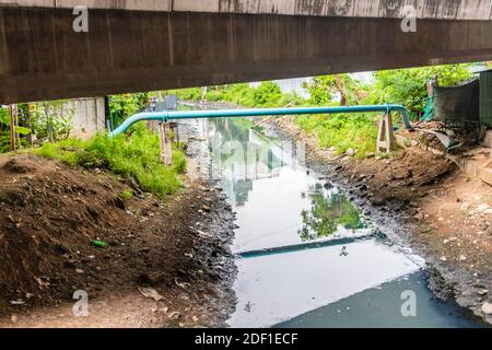
{"type": "Polygon", "coordinates": [[[0,178],[0,327],[225,322],[234,215],[207,184],[122,200],[131,184],[33,155],[1,158],[0,178]],[[72,312],[80,290],[87,317],[72,312]]]}

